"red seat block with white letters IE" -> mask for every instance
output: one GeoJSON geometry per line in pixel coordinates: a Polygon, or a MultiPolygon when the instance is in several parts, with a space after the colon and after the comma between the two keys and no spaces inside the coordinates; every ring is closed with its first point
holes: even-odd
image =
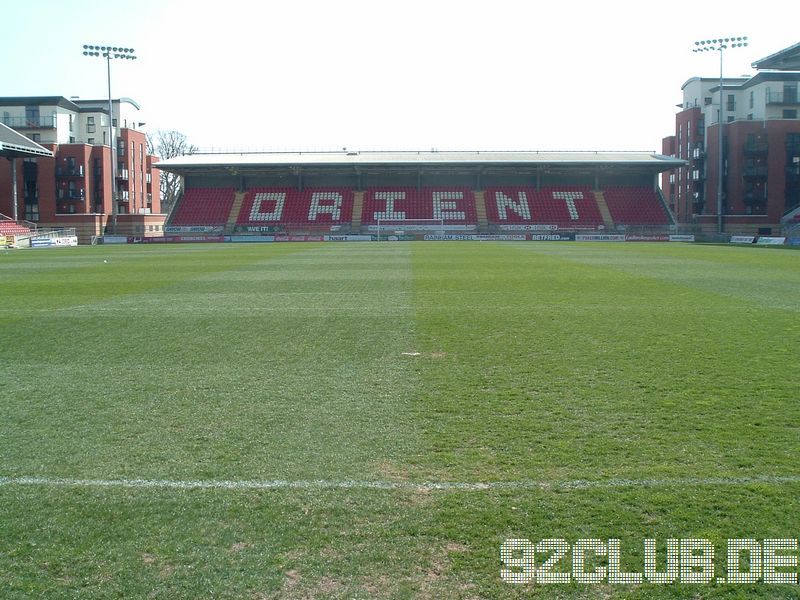
{"type": "Polygon", "coordinates": [[[361,223],[378,220],[403,224],[408,220],[444,221],[445,225],[477,225],[475,194],[468,188],[369,188],[364,193],[361,223]]]}

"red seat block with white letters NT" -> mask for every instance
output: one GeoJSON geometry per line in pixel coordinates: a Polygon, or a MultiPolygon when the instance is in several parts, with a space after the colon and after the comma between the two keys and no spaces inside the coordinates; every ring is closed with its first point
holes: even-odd
{"type": "Polygon", "coordinates": [[[489,188],[486,216],[495,225],[555,225],[559,229],[597,229],[603,217],[588,186],[489,188]]]}

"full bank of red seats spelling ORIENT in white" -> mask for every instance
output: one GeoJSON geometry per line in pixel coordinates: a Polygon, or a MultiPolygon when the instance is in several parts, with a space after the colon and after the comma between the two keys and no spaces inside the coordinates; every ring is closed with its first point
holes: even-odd
{"type": "MultiPolygon", "coordinates": [[[[450,229],[470,230],[536,225],[596,230],[670,224],[669,215],[652,188],[606,187],[595,194],[590,186],[576,185],[538,190],[505,186],[485,191],[457,186],[419,190],[386,186],[371,187],[364,192],[344,187],[302,191],[293,187],[254,187],[238,195],[232,187],[190,188],[176,206],[169,224],[228,230],[235,226],[245,232],[265,226],[308,232],[339,228],[358,231],[362,226],[374,228],[378,221],[387,225],[421,225],[430,221],[429,228],[443,223],[450,229]],[[357,195],[363,198],[359,215],[354,214],[358,210],[357,195]],[[600,204],[605,205],[602,210],[600,204]]],[[[3,234],[1,228],[0,234],[3,234]]]]}

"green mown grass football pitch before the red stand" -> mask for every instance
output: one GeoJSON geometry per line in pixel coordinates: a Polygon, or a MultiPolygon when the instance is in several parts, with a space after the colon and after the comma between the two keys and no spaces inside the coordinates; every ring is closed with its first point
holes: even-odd
{"type": "Polygon", "coordinates": [[[0,596],[800,598],[500,578],[512,537],[800,538],[798,291],[750,247],[0,254],[0,596]]]}

